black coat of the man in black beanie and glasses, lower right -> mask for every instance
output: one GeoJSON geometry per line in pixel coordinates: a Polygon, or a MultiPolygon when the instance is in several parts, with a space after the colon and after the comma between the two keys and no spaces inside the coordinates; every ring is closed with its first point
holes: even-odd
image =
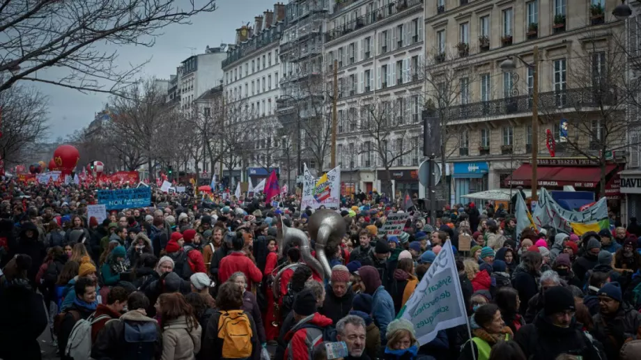
{"type": "Polygon", "coordinates": [[[559,354],[580,355],[584,360],[604,360],[598,341],[591,341],[581,325],[572,320],[570,327],[557,327],[543,314],[536,315],[532,324],[521,327],[514,336],[528,360],[556,359],[559,354]],[[602,355],[601,357],[599,355],[602,355]]]}

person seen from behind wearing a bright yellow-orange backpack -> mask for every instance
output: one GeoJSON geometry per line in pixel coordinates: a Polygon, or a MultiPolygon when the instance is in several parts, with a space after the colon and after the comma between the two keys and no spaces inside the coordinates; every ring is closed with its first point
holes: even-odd
{"type": "Polygon", "coordinates": [[[256,323],[242,307],[242,290],[223,283],[216,297],[218,311],[211,316],[202,341],[201,359],[258,359],[261,343],[256,323]]]}

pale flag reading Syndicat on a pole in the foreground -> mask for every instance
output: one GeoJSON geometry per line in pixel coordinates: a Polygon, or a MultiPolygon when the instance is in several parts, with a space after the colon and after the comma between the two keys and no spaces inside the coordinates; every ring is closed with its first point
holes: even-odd
{"type": "Polygon", "coordinates": [[[408,302],[401,308],[398,318],[410,320],[416,329],[419,344],[425,345],[436,337],[439,330],[466,324],[466,314],[454,251],[447,240],[408,302]]]}

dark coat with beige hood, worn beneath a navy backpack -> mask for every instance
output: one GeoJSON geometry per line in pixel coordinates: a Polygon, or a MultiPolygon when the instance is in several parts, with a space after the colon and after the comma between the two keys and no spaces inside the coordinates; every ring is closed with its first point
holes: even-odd
{"type": "MultiPolygon", "coordinates": [[[[125,323],[152,323],[155,328],[155,342],[154,342],[154,357],[153,359],[160,359],[162,353],[162,332],[160,331],[160,326],[158,322],[152,318],[148,318],[139,311],[128,311],[124,313],[118,320],[110,321],[109,324],[105,326],[103,331],[100,331],[98,336],[93,342],[91,347],[91,357],[93,359],[109,359],[116,360],[122,359],[126,350],[130,349],[128,344],[125,342],[125,323]]],[[[130,329],[139,329],[137,327],[132,327],[130,329]]],[[[145,329],[145,327],[143,327],[145,329]]],[[[145,331],[145,330],[143,330],[145,331]]],[[[150,331],[147,329],[146,331],[150,331]]],[[[150,334],[147,334],[150,336],[150,334]]],[[[144,334],[140,334],[143,336],[144,334]]],[[[151,359],[140,359],[140,360],[151,360],[151,359]]]]}

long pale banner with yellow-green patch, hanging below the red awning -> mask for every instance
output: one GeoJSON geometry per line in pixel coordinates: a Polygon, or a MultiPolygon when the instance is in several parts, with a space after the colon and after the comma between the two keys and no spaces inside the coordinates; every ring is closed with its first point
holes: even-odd
{"type": "Polygon", "coordinates": [[[586,210],[573,211],[561,207],[545,188],[539,192],[539,203],[532,214],[534,224],[539,227],[553,226],[565,233],[571,233],[570,223],[592,223],[608,218],[608,203],[605,197],[586,210]]]}

